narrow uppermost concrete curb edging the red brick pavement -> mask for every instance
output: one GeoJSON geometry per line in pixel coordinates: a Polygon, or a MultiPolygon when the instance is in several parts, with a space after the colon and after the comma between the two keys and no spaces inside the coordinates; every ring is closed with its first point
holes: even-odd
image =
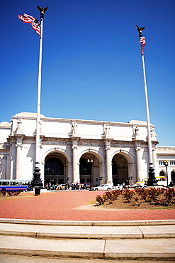
{"type": "Polygon", "coordinates": [[[63,220],[26,220],[0,218],[0,223],[28,225],[74,225],[74,226],[141,226],[175,225],[175,220],[138,220],[138,221],[63,221],[63,220]]]}

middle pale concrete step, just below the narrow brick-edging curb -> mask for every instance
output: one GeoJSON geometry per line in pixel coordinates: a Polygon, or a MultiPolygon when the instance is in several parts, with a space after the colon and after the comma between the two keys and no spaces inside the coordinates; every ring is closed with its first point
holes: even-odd
{"type": "Polygon", "coordinates": [[[175,238],[175,225],[80,226],[0,223],[0,235],[52,239],[149,239],[175,238]]]}

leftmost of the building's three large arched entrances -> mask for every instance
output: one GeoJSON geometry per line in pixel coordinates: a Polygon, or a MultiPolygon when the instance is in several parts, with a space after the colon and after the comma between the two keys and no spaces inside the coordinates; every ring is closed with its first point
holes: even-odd
{"type": "Polygon", "coordinates": [[[45,158],[45,184],[50,183],[51,185],[58,185],[62,183],[67,183],[67,161],[66,158],[58,153],[52,152],[48,154],[45,158]]]}

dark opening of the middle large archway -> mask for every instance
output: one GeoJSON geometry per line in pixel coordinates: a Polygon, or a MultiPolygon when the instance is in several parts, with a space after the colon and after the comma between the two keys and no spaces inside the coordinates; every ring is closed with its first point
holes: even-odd
{"type": "Polygon", "coordinates": [[[100,183],[99,163],[94,154],[83,154],[79,159],[79,177],[80,183],[91,183],[91,186],[100,183]]]}

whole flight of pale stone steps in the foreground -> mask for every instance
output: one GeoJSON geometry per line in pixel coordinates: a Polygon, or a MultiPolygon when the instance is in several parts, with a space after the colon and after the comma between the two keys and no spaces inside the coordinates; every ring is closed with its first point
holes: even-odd
{"type": "Polygon", "coordinates": [[[94,225],[94,222],[2,221],[0,253],[94,259],[175,259],[174,220],[167,224],[162,221],[159,225],[146,221],[145,225],[144,222],[94,225]]]}

